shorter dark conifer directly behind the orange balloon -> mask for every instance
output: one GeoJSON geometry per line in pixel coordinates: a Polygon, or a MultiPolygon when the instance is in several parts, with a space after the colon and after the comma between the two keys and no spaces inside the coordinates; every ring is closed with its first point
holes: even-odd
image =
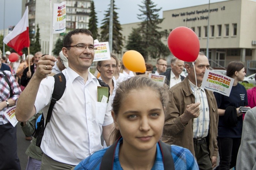
{"type": "Polygon", "coordinates": [[[132,28],[132,32],[128,36],[128,41],[125,48],[127,50],[138,51],[144,57],[146,52],[145,52],[145,48],[143,47],[142,37],[139,34],[138,28],[137,29],[132,28]]]}

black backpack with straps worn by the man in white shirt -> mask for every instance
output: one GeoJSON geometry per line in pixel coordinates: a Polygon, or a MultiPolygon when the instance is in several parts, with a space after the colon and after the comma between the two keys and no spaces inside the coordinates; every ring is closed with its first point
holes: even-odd
{"type": "MultiPolygon", "coordinates": [[[[46,117],[46,122],[44,125],[44,116],[42,116],[40,122],[37,123],[37,129],[34,134],[34,137],[37,139],[36,146],[38,146],[38,147],[41,146],[41,142],[43,139],[46,125],[48,122],[50,122],[50,119],[52,116],[53,107],[54,107],[55,103],[58,100],[60,100],[60,98],[62,97],[62,95],[66,89],[66,78],[62,72],[55,74],[53,77],[55,79],[54,89],[53,89],[53,94],[52,94],[52,100],[51,100],[49,110],[47,113],[47,117],[46,117]]],[[[109,86],[104,81],[102,81],[100,79],[98,79],[98,81],[101,86],[109,88],[109,86]]],[[[109,88],[109,96],[110,96],[110,88],[109,88]]]]}

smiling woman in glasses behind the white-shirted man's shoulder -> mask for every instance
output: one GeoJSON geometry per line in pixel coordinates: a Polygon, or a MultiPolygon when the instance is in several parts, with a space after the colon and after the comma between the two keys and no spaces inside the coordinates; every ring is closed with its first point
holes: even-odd
{"type": "Polygon", "coordinates": [[[111,54],[109,60],[98,61],[97,70],[101,73],[99,79],[103,80],[110,87],[111,98],[114,99],[116,94],[117,83],[114,77],[118,60],[115,55],[111,54]]]}

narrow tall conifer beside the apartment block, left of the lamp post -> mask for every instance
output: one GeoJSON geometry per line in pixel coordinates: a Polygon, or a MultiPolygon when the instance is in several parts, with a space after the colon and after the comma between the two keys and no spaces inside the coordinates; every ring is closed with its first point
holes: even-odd
{"type": "Polygon", "coordinates": [[[91,31],[92,35],[93,35],[93,39],[97,39],[100,35],[98,34],[98,28],[97,28],[97,23],[98,23],[98,19],[96,16],[96,12],[95,12],[95,7],[94,7],[94,2],[91,1],[91,7],[90,7],[90,13],[89,13],[89,30],[91,31]]]}

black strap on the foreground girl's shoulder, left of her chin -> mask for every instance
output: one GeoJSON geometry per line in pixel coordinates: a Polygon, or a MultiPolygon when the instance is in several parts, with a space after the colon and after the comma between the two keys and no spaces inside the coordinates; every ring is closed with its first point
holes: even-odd
{"type": "Polygon", "coordinates": [[[114,156],[116,151],[116,146],[121,136],[116,140],[105,152],[101,160],[100,170],[112,170],[114,165],[114,156]]]}

